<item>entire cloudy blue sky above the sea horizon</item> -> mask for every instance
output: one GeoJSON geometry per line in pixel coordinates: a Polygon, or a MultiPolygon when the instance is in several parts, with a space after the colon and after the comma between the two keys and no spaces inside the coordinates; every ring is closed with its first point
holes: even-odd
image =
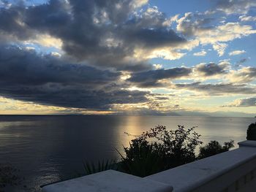
{"type": "Polygon", "coordinates": [[[255,0],[0,0],[0,114],[256,115],[255,0]]]}

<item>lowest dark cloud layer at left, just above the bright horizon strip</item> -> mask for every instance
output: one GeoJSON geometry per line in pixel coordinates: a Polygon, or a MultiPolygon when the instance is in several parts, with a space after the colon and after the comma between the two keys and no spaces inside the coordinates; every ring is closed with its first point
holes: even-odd
{"type": "Polygon", "coordinates": [[[89,89],[83,85],[48,84],[42,86],[5,86],[1,95],[38,104],[59,107],[78,107],[93,110],[108,110],[112,104],[135,104],[148,101],[148,92],[143,91],[104,91],[89,89]]]}

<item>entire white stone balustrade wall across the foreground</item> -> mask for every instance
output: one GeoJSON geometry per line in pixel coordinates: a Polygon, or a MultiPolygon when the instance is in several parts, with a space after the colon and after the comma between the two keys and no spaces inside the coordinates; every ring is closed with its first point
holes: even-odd
{"type": "Polygon", "coordinates": [[[46,185],[42,192],[256,191],[256,141],[148,177],[113,170],[46,185]]]}

